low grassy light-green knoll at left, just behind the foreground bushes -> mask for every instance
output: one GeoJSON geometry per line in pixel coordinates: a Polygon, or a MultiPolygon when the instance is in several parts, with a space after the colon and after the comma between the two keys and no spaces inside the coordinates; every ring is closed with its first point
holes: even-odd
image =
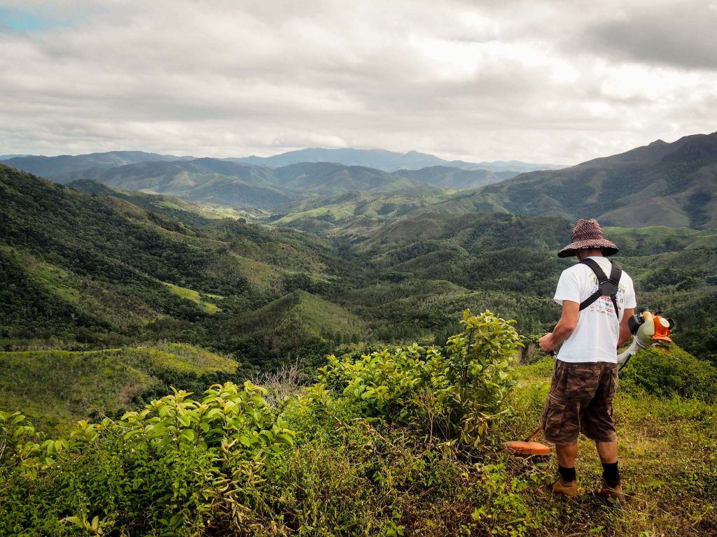
{"type": "Polygon", "coordinates": [[[22,411],[37,427],[67,431],[90,415],[115,415],[134,398],[167,387],[167,372],[234,374],[237,362],[186,344],[101,351],[0,352],[0,411],[22,411]]]}

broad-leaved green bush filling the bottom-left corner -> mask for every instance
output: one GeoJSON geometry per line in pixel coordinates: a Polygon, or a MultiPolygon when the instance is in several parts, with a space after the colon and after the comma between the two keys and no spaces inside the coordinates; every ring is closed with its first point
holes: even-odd
{"type": "Polygon", "coordinates": [[[0,534],[261,533],[273,512],[262,473],[295,434],[264,393],[250,382],[214,384],[201,401],[175,391],[117,422],[79,422],[69,440],[0,413],[0,477],[12,483],[0,534]]]}

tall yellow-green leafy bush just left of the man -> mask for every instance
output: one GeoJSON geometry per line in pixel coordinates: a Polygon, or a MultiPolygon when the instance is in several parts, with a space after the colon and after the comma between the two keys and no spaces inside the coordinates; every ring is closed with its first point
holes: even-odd
{"type": "Polygon", "coordinates": [[[478,447],[507,412],[515,384],[511,364],[521,347],[514,321],[465,310],[463,332],[437,347],[397,347],[361,357],[328,357],[319,381],[353,400],[369,417],[424,430],[429,439],[478,447]]]}

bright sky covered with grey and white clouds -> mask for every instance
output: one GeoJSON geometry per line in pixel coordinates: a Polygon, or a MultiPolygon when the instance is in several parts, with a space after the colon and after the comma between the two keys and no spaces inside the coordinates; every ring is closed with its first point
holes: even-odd
{"type": "Polygon", "coordinates": [[[717,0],[0,0],[0,154],[574,164],[717,130],[717,0]]]}

